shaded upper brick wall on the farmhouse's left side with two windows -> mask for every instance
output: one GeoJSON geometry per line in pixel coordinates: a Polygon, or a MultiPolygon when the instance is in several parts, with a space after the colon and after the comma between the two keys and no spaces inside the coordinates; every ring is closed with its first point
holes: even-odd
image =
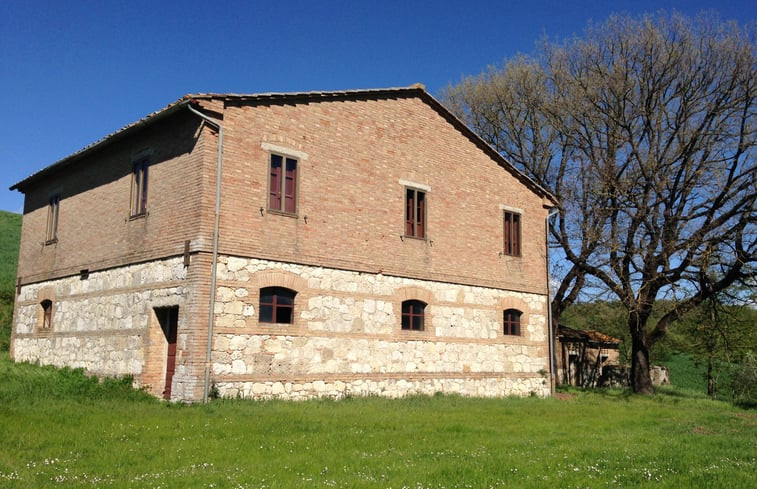
{"type": "Polygon", "coordinates": [[[23,282],[180,254],[185,240],[201,240],[200,223],[210,216],[203,214],[199,126],[187,111],[26,189],[18,268],[23,282]],[[130,219],[132,162],[138,154],[149,155],[151,162],[148,214],[130,219]],[[61,195],[58,241],[45,245],[47,206],[55,193],[61,195]]]}

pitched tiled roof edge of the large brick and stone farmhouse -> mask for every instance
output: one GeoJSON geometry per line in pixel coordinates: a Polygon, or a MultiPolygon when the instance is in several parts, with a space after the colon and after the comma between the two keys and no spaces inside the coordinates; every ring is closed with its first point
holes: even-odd
{"type": "Polygon", "coordinates": [[[452,124],[458,131],[460,131],[465,137],[473,142],[479,149],[496,161],[500,166],[511,172],[516,178],[518,178],[524,185],[526,185],[531,191],[537,195],[546,198],[553,205],[557,205],[557,199],[547,189],[539,185],[532,178],[525,175],[518,170],[512,163],[510,163],[505,157],[499,154],[494,148],[486,143],[481,137],[479,137],[473,130],[471,130],[464,122],[458,119],[452,112],[444,107],[441,102],[436,100],[431,94],[426,91],[426,88],[416,83],[409,87],[399,88],[377,88],[377,89],[361,89],[361,90],[340,90],[340,91],[315,91],[315,92],[288,92],[288,93],[259,93],[259,94],[237,94],[237,93],[197,93],[188,94],[179,100],[168,104],[166,107],[155,111],[142,119],[128,124],[121,129],[108,134],[107,136],[95,141],[94,143],[85,146],[84,148],[72,153],[65,158],[58,160],[57,162],[49,165],[42,170],[33,173],[20,182],[14,184],[10,190],[24,191],[30,184],[41,180],[45,176],[58,171],[75,161],[78,161],[82,157],[86,156],[90,152],[118,141],[138,129],[147,125],[153,124],[161,119],[166,118],[169,115],[179,111],[187,104],[195,103],[197,100],[223,100],[227,103],[268,103],[268,104],[295,104],[295,103],[311,103],[311,102],[324,102],[335,100],[376,100],[376,99],[391,99],[391,98],[412,98],[418,97],[434,109],[439,115],[441,115],[447,122],[452,124]]]}

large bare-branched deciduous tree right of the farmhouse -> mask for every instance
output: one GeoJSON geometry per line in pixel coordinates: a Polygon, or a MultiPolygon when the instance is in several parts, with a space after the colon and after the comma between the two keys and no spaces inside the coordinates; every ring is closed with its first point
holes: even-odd
{"type": "Polygon", "coordinates": [[[613,16],[443,94],[560,199],[553,316],[587,281],[617,296],[636,392],[654,392],[649,350],[670,325],[754,270],[755,97],[755,26],[677,14],[613,16]],[[650,324],[661,297],[676,307],[650,324]]]}

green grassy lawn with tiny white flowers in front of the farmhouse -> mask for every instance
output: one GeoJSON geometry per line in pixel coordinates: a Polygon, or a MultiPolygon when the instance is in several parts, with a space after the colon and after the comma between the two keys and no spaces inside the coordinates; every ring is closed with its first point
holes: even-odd
{"type": "Polygon", "coordinates": [[[757,487],[757,413],[669,390],[171,405],[0,354],[0,487],[757,487]]]}

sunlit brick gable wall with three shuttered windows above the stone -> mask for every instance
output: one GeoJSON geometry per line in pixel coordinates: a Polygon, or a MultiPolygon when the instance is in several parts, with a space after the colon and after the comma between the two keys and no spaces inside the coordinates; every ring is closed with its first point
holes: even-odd
{"type": "Polygon", "coordinates": [[[223,253],[546,290],[542,198],[421,99],[230,105],[223,124],[223,253]],[[262,143],[308,156],[297,218],[267,211],[262,143]],[[401,181],[431,188],[426,240],[402,238],[401,181]],[[503,205],[523,210],[521,258],[500,254],[503,205]]]}

